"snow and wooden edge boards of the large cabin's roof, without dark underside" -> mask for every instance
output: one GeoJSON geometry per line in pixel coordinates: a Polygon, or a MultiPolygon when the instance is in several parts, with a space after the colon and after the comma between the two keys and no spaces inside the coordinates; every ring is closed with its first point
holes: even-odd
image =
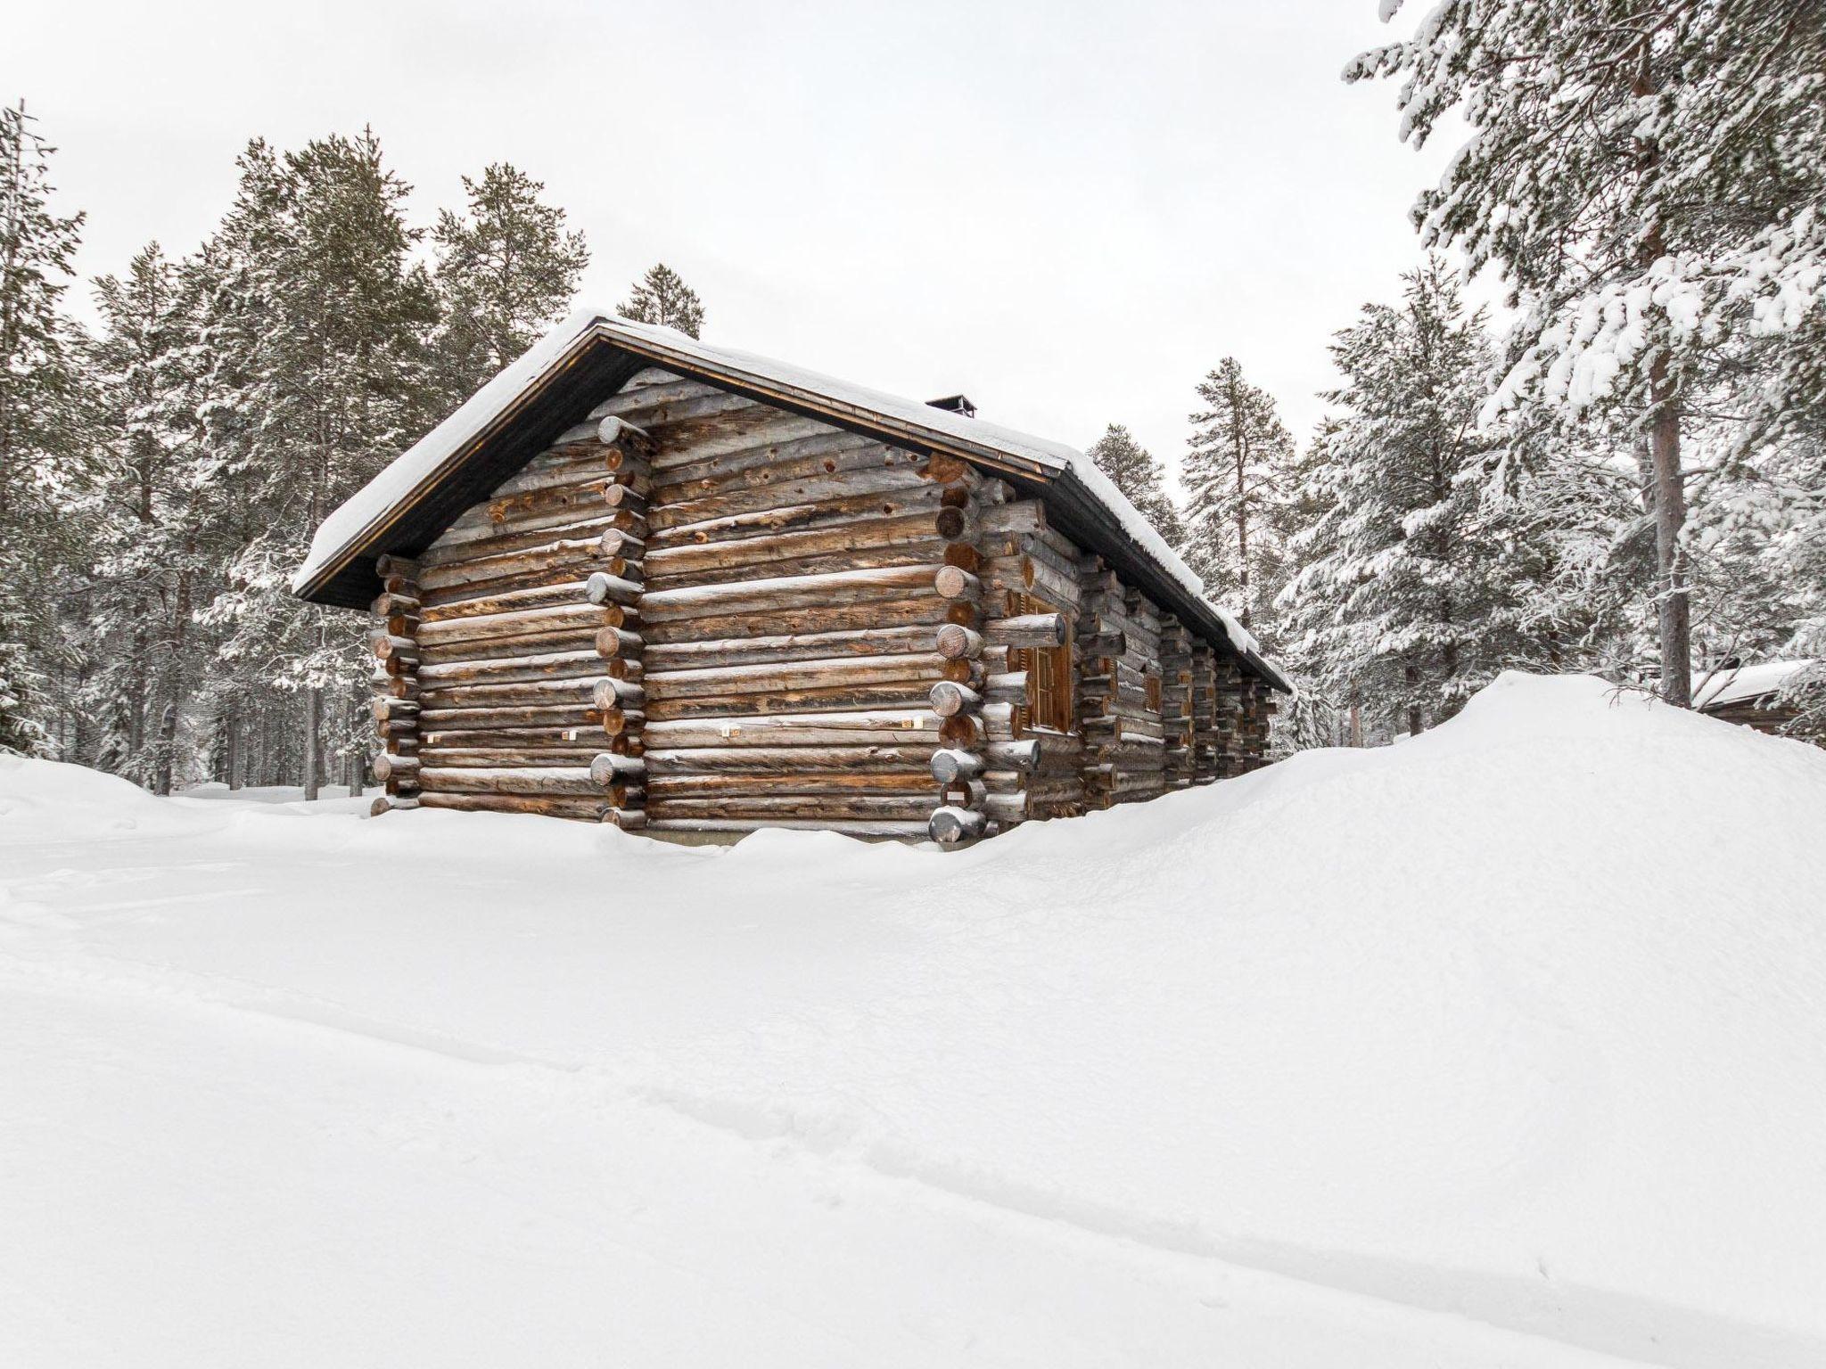
{"type": "MultiPolygon", "coordinates": [[[[456,413],[331,513],[318,528],[305,564],[292,577],[294,593],[312,597],[356,555],[385,549],[378,548],[376,540],[396,522],[404,506],[455,473],[504,414],[575,365],[582,352],[595,343],[634,352],[656,365],[729,381],[760,396],[827,413],[836,420],[858,422],[889,438],[904,436],[920,445],[940,447],[964,458],[1043,480],[1048,486],[1068,484],[1086,496],[1092,513],[1101,515],[1101,522],[1119,533],[1134,551],[1183,593],[1181,604],[1169,606],[1172,611],[1185,617],[1189,606],[1203,610],[1209,619],[1222,624],[1236,653],[1269,684],[1293,690],[1282,670],[1262,655],[1262,644],[1249,630],[1229,610],[1205,597],[1198,575],[1167,546],[1167,540],[1116,484],[1076,447],[754,352],[712,347],[676,329],[632,323],[614,310],[593,307],[575,310],[551,329],[524,356],[469,396],[456,413]]],[[[1107,548],[1096,549],[1107,551],[1107,548]]]]}

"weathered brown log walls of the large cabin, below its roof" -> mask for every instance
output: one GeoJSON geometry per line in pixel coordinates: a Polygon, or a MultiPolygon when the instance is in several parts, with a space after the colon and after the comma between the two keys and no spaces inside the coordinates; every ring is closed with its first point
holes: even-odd
{"type": "Polygon", "coordinates": [[[1037,500],[657,369],[380,571],[376,810],[951,843],[1209,783],[1265,728],[1037,500]]]}

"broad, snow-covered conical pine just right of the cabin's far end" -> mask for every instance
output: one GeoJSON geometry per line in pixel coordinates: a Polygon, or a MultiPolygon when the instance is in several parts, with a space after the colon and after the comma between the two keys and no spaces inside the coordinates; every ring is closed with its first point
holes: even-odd
{"type": "Polygon", "coordinates": [[[1401,307],[1368,305],[1331,347],[1346,383],[1302,462],[1313,522],[1282,599],[1328,697],[1421,732],[1523,653],[1525,595],[1481,517],[1483,318],[1437,259],[1404,279],[1401,307]]]}

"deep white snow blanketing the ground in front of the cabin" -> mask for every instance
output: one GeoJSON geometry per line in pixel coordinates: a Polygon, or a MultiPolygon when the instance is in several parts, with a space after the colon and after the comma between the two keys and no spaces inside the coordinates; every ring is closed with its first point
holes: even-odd
{"type": "Polygon", "coordinates": [[[1826,1364],[1822,750],[1505,677],[950,854],[351,803],[0,761],[0,1364],[1826,1364]]]}

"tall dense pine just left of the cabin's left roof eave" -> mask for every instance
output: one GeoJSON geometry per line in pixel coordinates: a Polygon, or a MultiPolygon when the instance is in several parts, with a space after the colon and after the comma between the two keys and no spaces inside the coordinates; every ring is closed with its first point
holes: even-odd
{"type": "Polygon", "coordinates": [[[299,695],[307,798],[325,743],[345,759],[365,747],[367,670],[362,624],[292,599],[289,579],[323,517],[409,445],[431,407],[435,308],[411,265],[407,190],[371,131],[283,159],[256,142],[215,243],[212,442],[254,526],[206,619],[225,633],[225,670],[299,695]]]}

